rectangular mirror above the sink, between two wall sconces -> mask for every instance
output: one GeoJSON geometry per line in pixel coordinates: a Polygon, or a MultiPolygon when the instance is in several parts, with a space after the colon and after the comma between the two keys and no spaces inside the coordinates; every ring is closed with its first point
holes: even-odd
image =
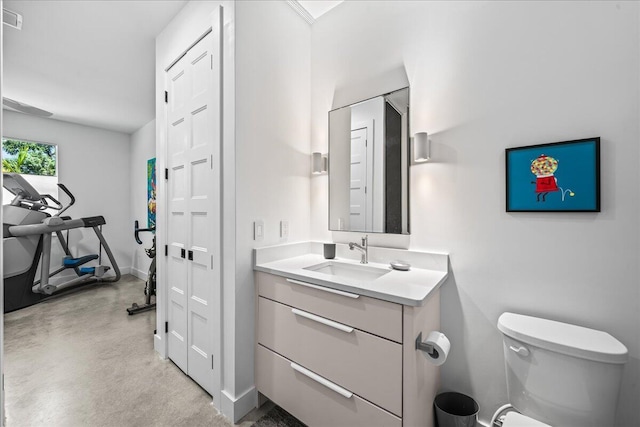
{"type": "Polygon", "coordinates": [[[329,111],[329,230],[409,234],[409,88],[329,111]]]}

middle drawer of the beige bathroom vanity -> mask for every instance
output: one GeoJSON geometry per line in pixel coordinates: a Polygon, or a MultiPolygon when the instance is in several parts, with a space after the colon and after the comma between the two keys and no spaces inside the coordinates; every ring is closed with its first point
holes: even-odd
{"type": "Polygon", "coordinates": [[[402,345],[259,297],[258,342],[402,415],[402,345]]]}

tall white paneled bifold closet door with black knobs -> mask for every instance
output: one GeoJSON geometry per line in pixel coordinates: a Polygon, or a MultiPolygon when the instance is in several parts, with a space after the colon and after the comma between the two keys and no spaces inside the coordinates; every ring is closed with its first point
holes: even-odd
{"type": "Polygon", "coordinates": [[[220,48],[212,31],[167,71],[168,355],[215,399],[220,372],[220,48]],[[216,387],[217,385],[217,387],[216,387]]]}

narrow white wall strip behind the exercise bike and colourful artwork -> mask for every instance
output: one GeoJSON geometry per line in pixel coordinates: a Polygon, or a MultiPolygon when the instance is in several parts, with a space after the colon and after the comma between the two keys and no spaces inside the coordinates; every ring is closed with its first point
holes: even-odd
{"type": "MultiPolygon", "coordinates": [[[[131,218],[128,228],[132,230],[135,220],[138,220],[140,228],[147,228],[147,160],[156,156],[156,121],[152,120],[131,135],[130,162],[131,183],[130,204],[131,218]]],[[[158,178],[162,178],[158,176],[158,178]]],[[[140,233],[142,245],[135,243],[133,234],[131,242],[133,244],[131,254],[131,274],[142,280],[147,279],[147,272],[151,264],[151,258],[144,252],[153,242],[151,233],[140,233]]]]}

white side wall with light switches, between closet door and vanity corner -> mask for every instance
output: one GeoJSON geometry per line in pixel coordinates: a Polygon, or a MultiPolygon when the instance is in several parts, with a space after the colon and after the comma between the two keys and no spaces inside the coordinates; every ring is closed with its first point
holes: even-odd
{"type": "MultiPolygon", "coordinates": [[[[253,388],[254,247],[308,240],[309,25],[286,2],[236,3],[236,392],[253,388]],[[253,222],[264,221],[264,240],[253,222]]],[[[326,152],[326,151],[325,151],[326,152]]]]}

